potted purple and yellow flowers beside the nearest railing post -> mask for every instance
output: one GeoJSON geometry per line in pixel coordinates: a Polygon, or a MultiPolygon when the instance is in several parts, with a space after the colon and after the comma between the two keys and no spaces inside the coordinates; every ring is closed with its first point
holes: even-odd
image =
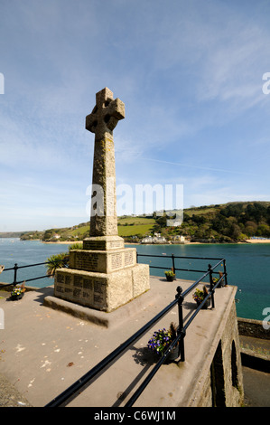
{"type": "MultiPolygon", "coordinates": [[[[152,338],[148,341],[147,347],[154,353],[158,355],[163,355],[169,345],[172,344],[172,341],[177,336],[177,328],[174,323],[171,323],[169,329],[159,329],[154,332],[152,338]]],[[[172,349],[172,352],[167,357],[167,362],[173,361],[178,357],[178,345],[175,345],[172,349]]]]}

